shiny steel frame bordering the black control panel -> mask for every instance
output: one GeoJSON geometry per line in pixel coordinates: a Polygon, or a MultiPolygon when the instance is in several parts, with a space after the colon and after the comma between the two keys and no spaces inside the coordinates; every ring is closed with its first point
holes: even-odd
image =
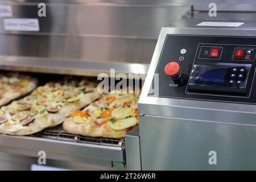
{"type": "MultiPolygon", "coordinates": [[[[252,28],[246,29],[246,25],[240,28],[169,28],[164,27],[160,33],[158,43],[156,44],[155,52],[152,57],[152,61],[150,64],[150,68],[148,69],[148,75],[144,82],[144,86],[142,89],[141,97],[139,98],[139,111],[142,114],[151,115],[163,115],[163,116],[171,116],[171,117],[182,117],[188,113],[188,110],[191,110],[190,113],[201,112],[203,114],[191,114],[191,119],[203,119],[207,120],[209,117],[209,112],[217,112],[222,111],[220,113],[223,115],[222,121],[228,122],[230,121],[230,115],[235,114],[232,120],[237,123],[241,123],[243,121],[240,120],[240,117],[237,117],[238,112],[248,113],[247,114],[247,125],[254,125],[255,121],[250,117],[253,116],[256,112],[255,105],[247,105],[247,104],[228,104],[225,102],[210,102],[210,101],[196,101],[196,100],[177,100],[174,98],[157,98],[157,97],[148,97],[147,94],[150,90],[151,82],[154,77],[155,68],[159,60],[160,53],[162,51],[162,47],[164,44],[164,40],[167,34],[187,34],[187,35],[233,35],[233,36],[256,36],[256,30],[252,28]],[[241,28],[241,29],[240,29],[241,28]],[[231,31],[232,30],[232,31],[231,31]],[[242,30],[242,31],[241,31],[242,30]],[[151,105],[151,106],[150,106],[151,105]],[[158,106],[166,107],[166,111],[158,110],[156,107],[158,106]],[[150,107],[148,107],[150,106],[150,107]],[[170,110],[173,108],[174,110],[170,110]],[[180,113],[177,113],[176,110],[180,109],[180,113]],[[167,112],[167,110],[169,110],[167,112]],[[159,113],[160,112],[160,113],[159,113]],[[225,117],[226,116],[226,117],[225,117]]],[[[218,120],[220,119],[218,115],[210,115],[211,119],[218,120]]]]}

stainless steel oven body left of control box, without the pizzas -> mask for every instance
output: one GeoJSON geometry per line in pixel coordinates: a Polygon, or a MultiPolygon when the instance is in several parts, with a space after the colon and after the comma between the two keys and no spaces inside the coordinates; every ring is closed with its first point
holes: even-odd
{"type": "MultiPolygon", "coordinates": [[[[160,28],[191,10],[157,3],[47,1],[46,16],[39,17],[40,2],[0,1],[7,14],[0,13],[1,72],[32,74],[40,85],[67,75],[95,81],[100,73],[144,78],[160,28]]],[[[26,137],[0,135],[0,169],[140,170],[139,147],[138,127],[123,139],[72,135],[61,126],[26,137]],[[42,151],[46,165],[40,166],[42,151]]]]}

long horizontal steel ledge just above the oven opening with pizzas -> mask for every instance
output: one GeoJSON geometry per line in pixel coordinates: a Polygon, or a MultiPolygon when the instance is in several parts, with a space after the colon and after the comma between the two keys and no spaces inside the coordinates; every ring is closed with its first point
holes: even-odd
{"type": "Polygon", "coordinates": [[[105,63],[100,61],[77,61],[44,59],[37,57],[0,56],[1,69],[9,71],[29,71],[41,73],[56,73],[80,76],[98,76],[99,73],[110,75],[110,69],[115,73],[138,73],[146,75],[148,64],[105,63]]]}

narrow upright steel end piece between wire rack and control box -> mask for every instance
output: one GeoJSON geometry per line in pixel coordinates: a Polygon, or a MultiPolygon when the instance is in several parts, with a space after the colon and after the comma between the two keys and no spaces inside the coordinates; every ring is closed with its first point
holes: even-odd
{"type": "Polygon", "coordinates": [[[125,135],[125,153],[127,170],[141,170],[141,144],[139,142],[139,127],[125,135]]]}

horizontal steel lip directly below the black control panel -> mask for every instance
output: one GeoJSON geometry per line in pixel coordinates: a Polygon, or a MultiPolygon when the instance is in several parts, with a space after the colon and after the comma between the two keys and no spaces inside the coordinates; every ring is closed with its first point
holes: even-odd
{"type": "Polygon", "coordinates": [[[190,101],[186,100],[175,100],[168,103],[170,103],[170,106],[140,104],[139,112],[147,115],[156,115],[159,119],[174,117],[189,119],[191,122],[200,121],[216,124],[226,123],[230,125],[256,126],[256,110],[254,105],[246,105],[247,107],[243,107],[242,104],[239,106],[239,104],[210,101],[195,101],[193,105],[191,105],[190,101]],[[176,103],[178,104],[175,105],[176,103]],[[179,106],[181,104],[187,106],[179,106]],[[217,109],[218,106],[220,107],[217,109]],[[249,110],[240,111],[246,108],[249,110]]]}

